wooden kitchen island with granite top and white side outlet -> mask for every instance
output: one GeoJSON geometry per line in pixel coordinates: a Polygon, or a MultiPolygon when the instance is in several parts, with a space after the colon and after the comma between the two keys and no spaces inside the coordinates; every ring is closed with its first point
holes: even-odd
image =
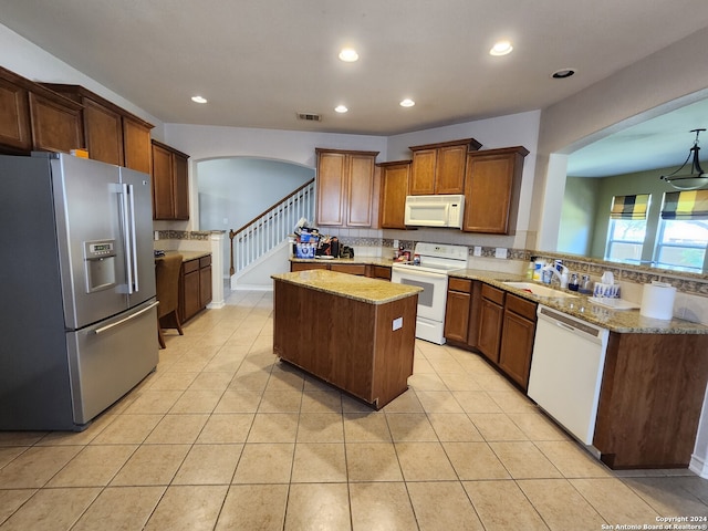
{"type": "Polygon", "coordinates": [[[272,279],[282,361],[376,409],[408,388],[420,288],[323,270],[272,279]]]}

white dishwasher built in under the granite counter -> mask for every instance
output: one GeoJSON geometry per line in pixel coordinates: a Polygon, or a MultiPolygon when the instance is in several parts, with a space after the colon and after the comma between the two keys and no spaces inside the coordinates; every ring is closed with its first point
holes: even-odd
{"type": "Polygon", "coordinates": [[[539,304],[529,396],[592,445],[610,332],[539,304]]]}

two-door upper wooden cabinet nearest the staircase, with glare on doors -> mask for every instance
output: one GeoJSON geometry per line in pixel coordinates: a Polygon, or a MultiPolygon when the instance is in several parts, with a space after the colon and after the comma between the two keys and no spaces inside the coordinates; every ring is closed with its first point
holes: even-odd
{"type": "Polygon", "coordinates": [[[316,223],[334,227],[377,225],[377,191],[374,171],[378,152],[316,148],[316,223]]]}

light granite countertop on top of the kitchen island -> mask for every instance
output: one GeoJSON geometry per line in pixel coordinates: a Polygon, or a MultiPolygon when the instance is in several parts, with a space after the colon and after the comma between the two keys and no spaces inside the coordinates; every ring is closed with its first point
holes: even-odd
{"type": "Polygon", "coordinates": [[[272,274],[271,278],[368,304],[386,304],[423,291],[423,288],[415,285],[396,284],[387,280],[367,279],[321,269],[272,274]]]}

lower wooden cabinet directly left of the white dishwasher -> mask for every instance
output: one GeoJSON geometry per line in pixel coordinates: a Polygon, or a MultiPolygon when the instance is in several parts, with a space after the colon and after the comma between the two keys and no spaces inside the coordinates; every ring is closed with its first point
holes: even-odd
{"type": "Polygon", "coordinates": [[[535,335],[537,304],[512,293],[507,293],[499,368],[525,391],[529,387],[529,371],[535,335]]]}

